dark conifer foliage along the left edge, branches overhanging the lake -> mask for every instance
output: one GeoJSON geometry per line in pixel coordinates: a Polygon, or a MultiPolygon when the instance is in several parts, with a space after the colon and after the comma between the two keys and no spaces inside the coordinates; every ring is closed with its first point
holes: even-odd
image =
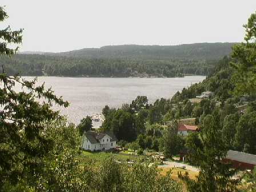
{"type": "MultiPolygon", "coordinates": [[[[0,7],[0,21],[8,17],[0,7]]],[[[9,43],[22,41],[22,29],[0,30],[0,53],[11,56],[18,47],[11,49],[9,43]]],[[[37,173],[41,158],[53,147],[46,137],[45,124],[60,117],[51,110],[53,103],[67,107],[68,102],[54,95],[44,85],[36,86],[36,78],[26,81],[18,75],[10,77],[2,67],[0,74],[0,189],[3,183],[17,183],[19,178],[37,173]],[[21,87],[15,91],[14,87],[21,87]],[[38,99],[43,99],[39,102],[38,99]]]]}

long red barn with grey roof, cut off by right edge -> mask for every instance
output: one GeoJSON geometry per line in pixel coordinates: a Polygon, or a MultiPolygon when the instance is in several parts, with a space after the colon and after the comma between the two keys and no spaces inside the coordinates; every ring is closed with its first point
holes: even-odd
{"type": "Polygon", "coordinates": [[[256,166],[256,155],[229,150],[222,161],[231,163],[237,169],[253,170],[256,166]]]}

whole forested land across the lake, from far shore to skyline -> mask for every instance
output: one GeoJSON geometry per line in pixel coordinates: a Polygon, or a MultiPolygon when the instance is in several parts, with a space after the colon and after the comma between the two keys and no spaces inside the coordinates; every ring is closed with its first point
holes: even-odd
{"type": "Polygon", "coordinates": [[[66,77],[181,77],[208,75],[234,43],[195,43],[178,46],[105,46],[65,53],[23,53],[0,57],[10,75],[66,77]]]}

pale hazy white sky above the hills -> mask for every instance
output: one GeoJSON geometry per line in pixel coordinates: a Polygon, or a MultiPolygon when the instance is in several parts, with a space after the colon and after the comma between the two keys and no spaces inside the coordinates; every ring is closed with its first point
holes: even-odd
{"type": "Polygon", "coordinates": [[[21,51],[241,42],[256,0],[1,0],[21,51]]]}

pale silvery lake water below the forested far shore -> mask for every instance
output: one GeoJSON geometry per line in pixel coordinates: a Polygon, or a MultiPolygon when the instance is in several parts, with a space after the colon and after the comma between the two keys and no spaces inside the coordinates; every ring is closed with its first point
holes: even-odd
{"type": "MultiPolygon", "coordinates": [[[[31,79],[32,77],[24,77],[31,79]]],[[[70,102],[67,109],[60,109],[70,121],[79,123],[86,115],[99,114],[105,105],[121,107],[138,95],[146,95],[152,103],[159,98],[170,98],[183,87],[201,82],[205,76],[184,78],[69,78],[38,77],[38,83],[45,82],[53,87],[55,94],[70,102]]]]}

